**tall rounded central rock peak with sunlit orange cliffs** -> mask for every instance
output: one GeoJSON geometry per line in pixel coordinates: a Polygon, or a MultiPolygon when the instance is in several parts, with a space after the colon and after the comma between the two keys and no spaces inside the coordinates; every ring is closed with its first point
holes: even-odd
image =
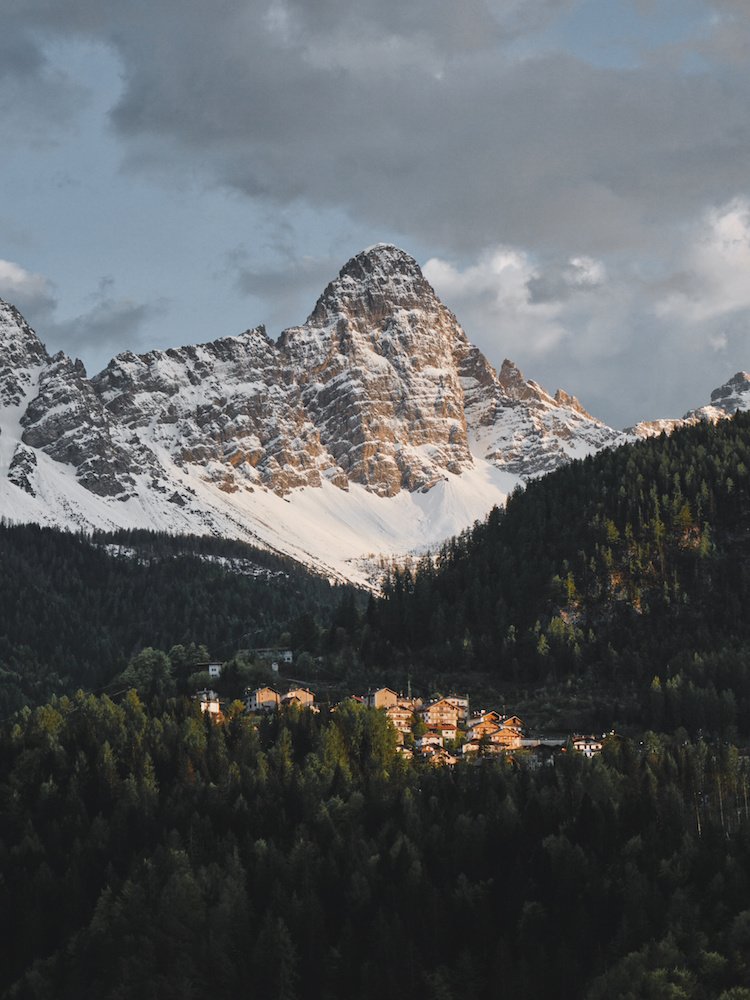
{"type": "Polygon", "coordinates": [[[395,247],[354,257],[279,342],[335,482],[384,496],[471,464],[456,350],[466,336],[395,247]]]}

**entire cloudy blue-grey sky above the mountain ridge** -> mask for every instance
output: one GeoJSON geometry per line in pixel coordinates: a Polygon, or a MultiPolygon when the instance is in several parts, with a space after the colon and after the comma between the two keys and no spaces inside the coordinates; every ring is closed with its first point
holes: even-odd
{"type": "Polygon", "coordinates": [[[747,0],[0,0],[0,296],[90,371],[396,243],[616,426],[750,369],[747,0]]]}

